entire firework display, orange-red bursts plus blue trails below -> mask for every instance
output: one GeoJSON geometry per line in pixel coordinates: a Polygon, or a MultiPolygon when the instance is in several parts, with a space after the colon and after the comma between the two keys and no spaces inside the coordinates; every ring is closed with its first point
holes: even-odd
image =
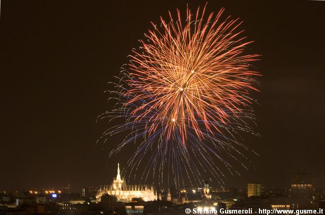
{"type": "Polygon", "coordinates": [[[187,8],[185,19],[177,10],[176,19],[169,13],[168,21],[152,23],[110,91],[115,109],[99,117],[114,125],[101,137],[104,142],[127,131],[111,155],[134,144],[127,169],[139,175],[139,164],[146,163],[141,180],[152,175],[163,182],[171,174],[180,188],[185,176],[201,184],[203,170],[222,185],[220,164],[233,173],[229,159],[242,164],[238,156],[245,158],[240,150],[247,148],[236,136],[253,133],[249,95],[257,91],[258,73],[249,63],[258,55],[244,54],[251,42],[241,37],[238,19],[221,20],[224,9],[216,16],[205,10],[191,14],[187,8]]]}

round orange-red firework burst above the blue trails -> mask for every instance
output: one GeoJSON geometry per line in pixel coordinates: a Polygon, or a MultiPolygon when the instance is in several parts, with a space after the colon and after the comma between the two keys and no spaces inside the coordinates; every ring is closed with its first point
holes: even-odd
{"type": "Polygon", "coordinates": [[[132,96],[124,108],[134,107],[130,114],[146,122],[148,136],[163,127],[167,141],[177,132],[184,145],[189,129],[200,139],[220,133],[220,123],[229,124],[250,105],[251,77],[258,73],[249,62],[258,55],[244,54],[252,42],[236,32],[238,19],[220,21],[223,10],[206,20],[205,8],[195,16],[187,8],[185,22],[179,10],[176,21],[171,13],[169,22],[160,17],[161,26],[152,23],[147,41],[133,51],[130,88],[123,92],[132,96]]]}

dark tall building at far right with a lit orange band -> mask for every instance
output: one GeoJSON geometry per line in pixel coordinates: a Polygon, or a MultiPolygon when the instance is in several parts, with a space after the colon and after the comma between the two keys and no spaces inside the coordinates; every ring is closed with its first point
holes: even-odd
{"type": "Polygon", "coordinates": [[[295,195],[308,195],[312,193],[313,177],[312,174],[306,170],[297,170],[292,177],[291,189],[292,194],[295,195]]]}

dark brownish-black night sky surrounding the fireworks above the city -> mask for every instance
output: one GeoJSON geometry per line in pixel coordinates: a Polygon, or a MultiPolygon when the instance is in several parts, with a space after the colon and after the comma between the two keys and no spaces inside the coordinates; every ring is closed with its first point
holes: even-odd
{"type": "MultiPolygon", "coordinates": [[[[325,187],[325,2],[210,1],[207,12],[243,20],[261,93],[255,97],[261,137],[244,144],[251,156],[241,176],[226,174],[226,187],[261,182],[288,187],[297,168],[325,187]],[[255,166],[255,167],[254,167],[255,166]]],[[[107,82],[118,75],[138,39],[186,1],[1,1],[0,190],[110,184],[108,159],[122,139],[96,145],[112,109],[107,82]]],[[[196,10],[204,1],[190,1],[196,10]]],[[[212,186],[215,186],[212,184],[212,186]]]]}

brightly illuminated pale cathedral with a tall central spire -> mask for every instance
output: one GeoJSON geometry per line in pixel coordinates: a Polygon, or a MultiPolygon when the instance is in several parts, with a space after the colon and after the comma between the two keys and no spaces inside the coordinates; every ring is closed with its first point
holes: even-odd
{"type": "Polygon", "coordinates": [[[105,194],[116,196],[119,201],[131,201],[132,198],[142,198],[144,201],[153,201],[157,199],[157,194],[153,186],[149,185],[126,185],[124,177],[120,175],[120,165],[117,164],[117,175],[114,177],[112,185],[104,185],[97,192],[97,202],[105,194]]]}

